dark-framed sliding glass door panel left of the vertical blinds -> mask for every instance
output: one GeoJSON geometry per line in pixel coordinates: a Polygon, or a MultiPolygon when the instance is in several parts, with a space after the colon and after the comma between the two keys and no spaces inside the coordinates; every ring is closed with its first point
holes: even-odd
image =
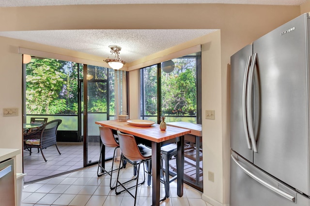
{"type": "MultiPolygon", "coordinates": [[[[80,80],[80,119],[84,143],[84,166],[88,166],[99,161],[101,142],[98,125],[95,124],[95,121],[104,121],[110,118],[111,87],[109,69],[107,68],[83,65],[83,77],[80,80]]],[[[106,158],[111,157],[107,148],[106,158]]]]}

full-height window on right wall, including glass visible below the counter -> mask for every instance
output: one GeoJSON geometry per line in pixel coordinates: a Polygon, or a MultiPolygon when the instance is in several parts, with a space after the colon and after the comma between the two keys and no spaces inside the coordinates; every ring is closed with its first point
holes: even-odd
{"type": "MultiPolygon", "coordinates": [[[[201,124],[201,55],[171,61],[174,64],[172,71],[164,63],[140,70],[140,118],[159,123],[160,116],[164,116],[166,122],[201,124]]],[[[185,137],[184,181],[202,191],[201,140],[202,137],[191,134],[185,137]]],[[[176,171],[175,158],[169,163],[173,174],[176,171]]]]}

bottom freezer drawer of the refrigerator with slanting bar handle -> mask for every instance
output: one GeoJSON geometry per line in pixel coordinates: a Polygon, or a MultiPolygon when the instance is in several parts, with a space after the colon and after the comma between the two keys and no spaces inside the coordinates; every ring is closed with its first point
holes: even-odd
{"type": "Polygon", "coordinates": [[[230,206],[309,205],[308,197],[264,173],[236,153],[232,154],[230,206]]]}

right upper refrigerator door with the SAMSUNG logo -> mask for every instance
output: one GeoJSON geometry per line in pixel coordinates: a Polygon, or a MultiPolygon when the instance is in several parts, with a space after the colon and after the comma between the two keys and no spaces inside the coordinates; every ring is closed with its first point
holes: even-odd
{"type": "Polygon", "coordinates": [[[310,195],[306,25],[301,15],[253,43],[258,65],[253,111],[259,117],[253,163],[310,195]]]}

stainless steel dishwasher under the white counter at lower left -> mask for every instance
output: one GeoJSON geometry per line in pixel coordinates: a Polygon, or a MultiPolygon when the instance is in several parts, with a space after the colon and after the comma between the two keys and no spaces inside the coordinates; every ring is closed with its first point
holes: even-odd
{"type": "Polygon", "coordinates": [[[14,160],[0,162],[0,205],[15,206],[14,160]]]}

